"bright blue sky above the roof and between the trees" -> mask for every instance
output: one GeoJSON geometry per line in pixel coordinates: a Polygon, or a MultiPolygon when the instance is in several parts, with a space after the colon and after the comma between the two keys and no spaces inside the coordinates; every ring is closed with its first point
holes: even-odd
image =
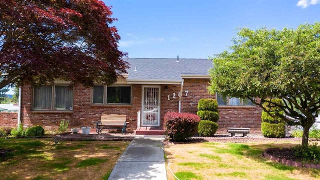
{"type": "Polygon", "coordinates": [[[320,0],[103,0],[129,57],[207,58],[236,27],[296,28],[320,21],[320,0]]]}

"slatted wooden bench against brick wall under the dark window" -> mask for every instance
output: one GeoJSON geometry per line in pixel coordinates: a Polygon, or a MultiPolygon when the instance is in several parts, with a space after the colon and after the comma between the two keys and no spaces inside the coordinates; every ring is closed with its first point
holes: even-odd
{"type": "Polygon", "coordinates": [[[101,119],[96,122],[96,132],[101,133],[103,128],[107,128],[110,131],[110,128],[122,129],[122,134],[125,131],[126,127],[126,115],[124,114],[101,114],[101,119]]]}

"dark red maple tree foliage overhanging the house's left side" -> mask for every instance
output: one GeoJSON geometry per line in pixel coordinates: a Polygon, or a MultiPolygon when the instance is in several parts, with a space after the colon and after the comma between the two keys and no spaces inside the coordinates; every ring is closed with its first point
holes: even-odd
{"type": "Polygon", "coordinates": [[[93,85],[126,72],[100,0],[0,0],[0,89],[54,78],[93,85]]]}

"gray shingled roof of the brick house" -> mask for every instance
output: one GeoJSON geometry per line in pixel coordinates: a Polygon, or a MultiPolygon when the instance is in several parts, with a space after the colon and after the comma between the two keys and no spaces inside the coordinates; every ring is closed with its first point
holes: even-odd
{"type": "Polygon", "coordinates": [[[181,74],[208,74],[212,61],[179,58],[125,58],[129,62],[128,79],[181,79],[181,74]],[[136,67],[137,71],[134,71],[136,67]]]}

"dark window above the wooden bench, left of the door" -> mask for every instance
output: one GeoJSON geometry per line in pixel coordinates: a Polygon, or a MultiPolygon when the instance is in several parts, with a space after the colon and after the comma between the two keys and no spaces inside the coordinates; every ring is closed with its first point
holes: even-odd
{"type": "Polygon", "coordinates": [[[131,104],[130,85],[94,85],[93,104],[131,104]]]}

